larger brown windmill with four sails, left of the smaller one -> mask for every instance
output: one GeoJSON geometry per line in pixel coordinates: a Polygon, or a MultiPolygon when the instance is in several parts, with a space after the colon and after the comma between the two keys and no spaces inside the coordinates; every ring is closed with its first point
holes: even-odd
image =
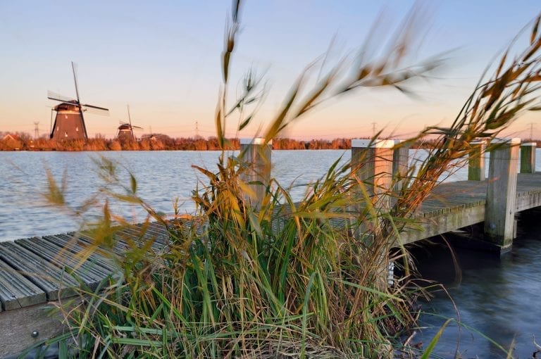
{"type": "Polygon", "coordinates": [[[75,65],[73,64],[73,61],[71,63],[71,69],[73,70],[73,80],[75,81],[75,94],[77,95],[77,99],[70,99],[67,96],[55,94],[50,91],[47,94],[48,99],[61,102],[53,108],[54,111],[56,111],[56,118],[54,119],[54,126],[51,129],[51,139],[88,139],[85,118],[83,118],[82,113],[87,110],[92,110],[92,112],[102,115],[108,115],[109,113],[107,108],[80,102],[77,76],[75,75],[75,65]]]}

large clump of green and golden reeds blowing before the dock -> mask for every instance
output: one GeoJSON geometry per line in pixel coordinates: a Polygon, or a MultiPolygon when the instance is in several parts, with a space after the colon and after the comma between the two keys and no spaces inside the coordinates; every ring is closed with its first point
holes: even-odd
{"type": "MultiPolygon", "coordinates": [[[[406,80],[438,68],[440,61],[434,59],[404,64],[415,48],[415,14],[397,30],[410,36],[391,37],[380,44],[377,56],[359,51],[352,61],[325,63],[317,78],[312,75],[319,69],[310,65],[259,135],[262,148],[329,99],[354,96],[361,87],[405,91],[406,80]]],[[[375,190],[373,179],[359,175],[366,162],[362,156],[369,156],[365,152],[354,162],[359,165],[337,160],[294,202],[287,185],[271,177],[254,180],[253,171],[263,170],[251,168],[249,157],[264,160],[265,151],[236,156],[228,151],[226,125],[234,115],[242,131],[254,118],[251,106],[261,99],[261,77],[253,70],[244,78],[244,92],[228,99],[240,28],[240,2],[235,3],[226,26],[216,111],[221,153],[216,170],[195,166],[205,178],[193,191],[196,213],[175,221],[162,218],[137,195],[135,176],[128,184],[118,182],[118,163],[102,159],[100,177],[106,183],[100,193],[105,197],[92,199],[103,204],[102,217],[82,227],[94,239],[83,258],[102,251],[121,275],[97,291],[80,289],[78,300],[58,304],[67,329],[48,344],[58,343],[61,356],[99,358],[428,358],[437,336],[423,348],[399,339],[402,329],[414,324],[412,303],[424,292],[409,280],[408,251],[391,247],[414,227],[412,213],[440,175],[469,153],[471,141],[497,137],[521,113],[538,109],[538,24],[537,18],[521,51],[510,48],[494,73],[483,75],[452,125],[427,127],[405,142],[435,138],[415,176],[402,173],[389,188],[375,190]],[[151,235],[143,237],[149,234],[147,224],[130,225],[113,213],[111,196],[139,203],[149,222],[168,225],[167,248],[153,251],[151,235]],[[125,239],[125,251],[113,251],[119,245],[114,234],[126,227],[136,233],[134,239],[125,239]],[[388,285],[391,261],[403,275],[388,285]]],[[[59,183],[49,177],[49,199],[69,209],[59,183]]],[[[85,218],[80,208],[76,214],[85,218]]]]}

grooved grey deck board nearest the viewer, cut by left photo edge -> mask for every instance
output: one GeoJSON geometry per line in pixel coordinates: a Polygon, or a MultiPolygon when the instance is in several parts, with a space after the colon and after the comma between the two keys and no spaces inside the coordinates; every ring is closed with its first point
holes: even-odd
{"type": "Polygon", "coordinates": [[[2,310],[45,303],[46,294],[17,270],[0,260],[0,301],[2,310]]]}

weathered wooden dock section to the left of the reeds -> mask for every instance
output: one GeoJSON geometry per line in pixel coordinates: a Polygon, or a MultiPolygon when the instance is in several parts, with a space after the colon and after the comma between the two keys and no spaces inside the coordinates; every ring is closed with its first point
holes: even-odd
{"type": "MultiPolygon", "coordinates": [[[[135,236],[130,229],[119,232],[116,253],[128,248],[123,237],[135,236]]],[[[151,238],[154,251],[162,251],[168,230],[152,223],[140,241],[151,238]]],[[[90,244],[75,233],[0,242],[0,358],[61,332],[61,318],[49,316],[52,302],[73,298],[78,287],[94,290],[109,276],[120,277],[111,260],[97,252],[81,262],[79,255],[90,244]]]]}

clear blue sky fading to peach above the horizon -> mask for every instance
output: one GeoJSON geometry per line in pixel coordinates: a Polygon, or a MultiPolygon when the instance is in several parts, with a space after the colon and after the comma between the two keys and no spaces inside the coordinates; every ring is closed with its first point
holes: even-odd
{"type": "MultiPolygon", "coordinates": [[[[404,138],[427,125],[449,125],[483,70],[541,11],[539,0],[244,1],[229,99],[253,68],[264,74],[265,101],[243,132],[236,116],[228,119],[228,135],[252,137],[264,128],[306,65],[328,53],[324,71],[357,53],[376,21],[372,48],[385,49],[414,4],[421,4],[421,29],[404,65],[444,59],[437,72],[408,84],[415,96],[358,89],[300,118],[285,137],[354,138],[381,130],[404,138]]],[[[0,132],[49,133],[58,102],[47,91],[75,98],[73,61],[81,102],[109,109],[108,116],[85,115],[89,137],[115,137],[128,105],[132,124],[143,127],[136,137],[213,136],[230,6],[229,0],[0,0],[0,132]]],[[[537,116],[519,118],[507,135],[530,137],[533,130],[541,138],[537,116]]]]}

